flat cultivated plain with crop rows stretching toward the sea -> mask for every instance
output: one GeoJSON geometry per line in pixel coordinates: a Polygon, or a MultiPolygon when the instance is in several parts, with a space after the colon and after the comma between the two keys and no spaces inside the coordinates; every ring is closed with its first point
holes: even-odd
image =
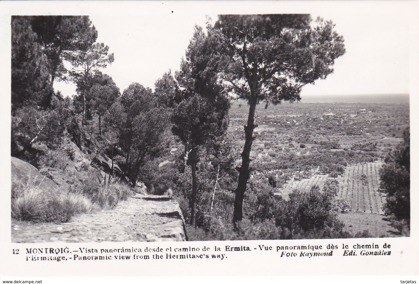
{"type": "MultiPolygon", "coordinates": [[[[229,130],[241,147],[247,110],[246,103],[239,101],[230,110],[229,130]]],[[[347,199],[350,204],[346,213],[339,214],[344,230],[395,236],[383,212],[379,170],[380,161],[403,141],[403,131],[409,126],[408,102],[283,103],[268,108],[261,104],[255,123],[259,126],[251,158],[260,174],[279,173],[285,183],[275,194],[288,199],[294,189],[309,191],[316,185],[322,189],[332,178],[320,166],[347,162],[344,174],[336,177],[341,185],[336,199],[347,199]],[[296,178],[295,173],[310,176],[313,170],[310,178],[296,178]]]]}

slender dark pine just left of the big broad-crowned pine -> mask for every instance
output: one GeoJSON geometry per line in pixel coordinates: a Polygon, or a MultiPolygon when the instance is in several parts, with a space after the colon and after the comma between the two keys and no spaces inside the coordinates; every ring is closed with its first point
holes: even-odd
{"type": "Polygon", "coordinates": [[[229,103],[217,83],[216,67],[209,64],[217,46],[214,36],[206,36],[202,28],[196,27],[186,59],[182,60],[181,70],[176,74],[182,100],[172,114],[172,132],[184,144],[185,158],[191,165],[191,225],[195,225],[199,148],[222,136],[228,125],[229,103]]]}

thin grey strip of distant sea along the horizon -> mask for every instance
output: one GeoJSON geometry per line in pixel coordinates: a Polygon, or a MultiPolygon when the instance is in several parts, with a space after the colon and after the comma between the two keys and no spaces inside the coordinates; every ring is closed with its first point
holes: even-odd
{"type": "Polygon", "coordinates": [[[300,103],[409,103],[409,94],[302,95],[300,103]]]}

